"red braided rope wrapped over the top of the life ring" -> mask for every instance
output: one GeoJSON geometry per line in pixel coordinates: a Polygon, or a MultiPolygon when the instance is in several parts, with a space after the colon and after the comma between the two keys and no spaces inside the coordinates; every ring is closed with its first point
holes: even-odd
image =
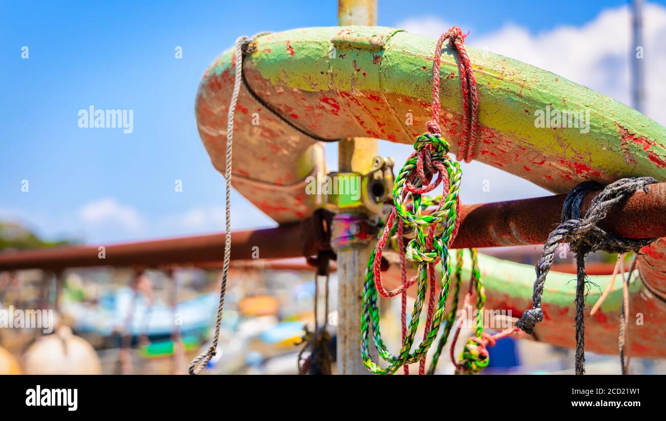
{"type": "Polygon", "coordinates": [[[440,129],[440,61],[442,58],[442,45],[446,39],[449,46],[458,51],[458,67],[460,68],[460,91],[462,92],[462,134],[460,135],[460,151],[456,159],[469,163],[474,159],[476,137],[479,121],[479,99],[476,90],[476,77],[472,69],[470,56],[464,47],[465,37],[459,27],[452,27],[440,36],[437,41],[435,57],[432,61],[432,120],[426,123],[430,133],[442,133],[440,129]],[[470,111],[470,103],[472,110],[470,111]]]}

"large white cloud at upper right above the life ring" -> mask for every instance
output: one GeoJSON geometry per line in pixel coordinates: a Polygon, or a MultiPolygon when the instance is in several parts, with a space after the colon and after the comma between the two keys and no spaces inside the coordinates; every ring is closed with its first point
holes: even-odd
{"type": "MultiPolygon", "coordinates": [[[[561,26],[536,35],[513,23],[466,42],[480,48],[541,67],[595,91],[630,103],[629,57],[631,15],[627,6],[605,9],[580,27],[561,26]]],[[[438,37],[450,27],[437,17],[408,18],[399,28],[438,37]]],[[[645,58],[645,114],[666,124],[666,8],[647,3],[643,7],[645,58]]]]}

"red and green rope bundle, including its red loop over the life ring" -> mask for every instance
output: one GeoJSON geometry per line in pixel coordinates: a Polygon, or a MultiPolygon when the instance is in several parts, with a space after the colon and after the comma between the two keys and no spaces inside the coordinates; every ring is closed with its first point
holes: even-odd
{"type": "MultiPolygon", "coordinates": [[[[448,258],[448,246],[453,241],[458,231],[460,220],[460,199],[458,189],[460,188],[460,165],[448,156],[449,145],[442,139],[442,130],[438,123],[440,117],[440,59],[442,57],[442,45],[446,39],[450,40],[452,48],[458,51],[460,56],[460,79],[463,97],[463,129],[461,140],[462,157],[471,160],[469,149],[474,149],[476,141],[476,121],[478,120],[478,101],[476,95],[476,80],[472,72],[470,59],[463,47],[464,35],[458,27],[452,27],[440,37],[432,66],[432,121],[426,123],[428,132],[416,138],[414,153],[410,155],[404,167],[400,170],[393,189],[394,209],[392,210],[384,230],[380,233],[376,248],[368,260],[368,268],[364,280],[363,291],[363,315],[361,320],[361,352],[364,363],[368,369],[378,374],[392,374],[401,366],[407,366],[413,362],[420,362],[419,374],[426,372],[426,352],[436,338],[442,319],[444,318],[444,307],[450,286],[450,262],[448,258]],[[470,102],[472,112],[470,116],[470,102]],[[436,177],[436,180],[433,178],[436,177]],[[430,215],[423,215],[428,205],[433,205],[432,199],[423,197],[425,193],[433,191],[444,182],[444,194],[437,198],[437,209],[430,215]],[[395,224],[396,216],[399,216],[395,224]],[[414,239],[406,247],[402,248],[402,230],[406,223],[414,229],[414,239]],[[435,228],[441,224],[444,232],[441,236],[435,235],[435,228]],[[391,235],[399,232],[398,244],[400,248],[400,268],[402,284],[398,288],[388,291],[382,284],[381,260],[382,250],[386,246],[386,240],[391,235]],[[418,274],[406,280],[406,268],[404,256],[408,260],[419,264],[418,274]],[[441,262],[440,270],[440,293],[436,295],[436,273],[435,265],[441,262]],[[417,284],[416,302],[409,324],[406,323],[406,290],[417,284]],[[426,314],[426,326],[422,342],[412,352],[414,336],[420,319],[420,314],[426,299],[426,290],[430,284],[430,296],[428,298],[428,310],[426,314]],[[377,294],[384,297],[402,295],[402,348],[400,354],[394,355],[388,352],[379,326],[379,312],[377,308],[377,294]],[[370,326],[374,346],[379,355],[389,363],[388,368],[380,367],[370,357],[370,326]]],[[[408,369],[405,368],[408,374],[408,369]]]]}

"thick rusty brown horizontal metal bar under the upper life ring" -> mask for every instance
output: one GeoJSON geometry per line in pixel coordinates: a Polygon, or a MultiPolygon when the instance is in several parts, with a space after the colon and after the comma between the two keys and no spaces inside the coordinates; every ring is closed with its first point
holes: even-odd
{"type": "MultiPolygon", "coordinates": [[[[597,193],[587,195],[583,210],[597,193]]],[[[463,205],[462,223],[454,248],[542,244],[559,222],[565,195],[521,201],[463,205]]],[[[631,238],[666,236],[666,183],[652,185],[649,194],[638,192],[620,203],[602,228],[631,238]],[[618,222],[621,221],[621,222],[618,222]]],[[[265,230],[234,232],[231,257],[250,259],[258,246],[259,258],[314,255],[317,243],[314,224],[279,226],[265,230]]],[[[41,248],[0,253],[0,270],[43,268],[57,270],[80,266],[189,265],[222,259],[224,234],[205,234],[165,240],[101,244],[106,258],[99,258],[99,246],[41,248]]]]}

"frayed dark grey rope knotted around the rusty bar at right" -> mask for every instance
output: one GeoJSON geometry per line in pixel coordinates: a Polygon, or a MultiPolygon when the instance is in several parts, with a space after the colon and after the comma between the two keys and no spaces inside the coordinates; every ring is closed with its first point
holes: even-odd
{"type": "Polygon", "coordinates": [[[532,308],[525,311],[516,322],[516,326],[527,334],[534,332],[534,327],[543,320],[541,311],[541,295],[545,277],[553,264],[555,250],[561,242],[568,242],[571,251],[576,254],[577,286],[576,286],[576,374],[585,374],[585,331],[583,326],[585,310],[585,256],[589,252],[603,250],[609,253],[638,252],[657,238],[623,238],[612,232],[605,232],[597,226],[606,217],[609,210],[636,191],[647,193],[647,185],[657,183],[652,177],[637,179],[620,179],[605,188],[593,182],[577,185],[567,195],[562,209],[561,224],[553,230],[543,245],[541,258],[535,266],[536,280],[532,294],[532,308]],[[590,204],[585,217],[581,218],[581,204],[589,191],[603,189],[590,204]]]}

